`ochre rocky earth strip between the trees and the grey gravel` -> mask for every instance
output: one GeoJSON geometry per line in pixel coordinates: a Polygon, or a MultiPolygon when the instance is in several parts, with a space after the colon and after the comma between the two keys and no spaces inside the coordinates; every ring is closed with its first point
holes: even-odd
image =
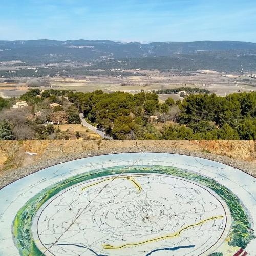
{"type": "Polygon", "coordinates": [[[91,154],[97,151],[113,153],[115,151],[166,151],[172,149],[191,152],[213,153],[232,159],[243,160],[256,165],[256,141],[107,141],[107,140],[27,140],[0,142],[0,170],[16,169],[50,159],[65,158],[69,155],[91,154]],[[29,153],[36,155],[29,155],[29,153]]]}

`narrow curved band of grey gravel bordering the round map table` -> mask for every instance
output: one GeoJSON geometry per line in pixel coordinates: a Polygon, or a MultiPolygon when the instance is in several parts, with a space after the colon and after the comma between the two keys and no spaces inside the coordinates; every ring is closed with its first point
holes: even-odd
{"type": "MultiPolygon", "coordinates": [[[[90,151],[86,153],[75,153],[69,154],[65,157],[58,157],[54,159],[50,159],[48,162],[42,162],[36,165],[30,165],[28,167],[19,168],[15,170],[6,170],[1,173],[0,175],[0,189],[5,187],[6,185],[23,178],[29,174],[38,172],[38,170],[50,167],[52,165],[56,165],[63,162],[68,162],[75,159],[80,159],[84,157],[90,156],[98,156],[104,154],[115,154],[115,153],[127,153],[127,152],[161,152],[161,153],[173,153],[173,154],[181,154],[181,155],[188,155],[188,156],[195,156],[201,157],[213,161],[217,161],[223,164],[227,164],[234,168],[240,169],[243,172],[246,172],[254,177],[256,177],[256,166],[253,163],[232,159],[226,156],[215,155],[211,153],[203,153],[203,152],[196,152],[196,151],[189,151],[189,150],[179,150],[179,149],[172,149],[166,150],[153,150],[152,148],[119,148],[119,149],[112,149],[112,150],[97,150],[97,151],[90,151]]],[[[33,157],[33,156],[31,156],[33,157]]]]}

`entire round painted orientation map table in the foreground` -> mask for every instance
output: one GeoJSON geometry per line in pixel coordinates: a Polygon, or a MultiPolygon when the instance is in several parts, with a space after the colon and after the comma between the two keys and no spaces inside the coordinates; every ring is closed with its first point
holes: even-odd
{"type": "Polygon", "coordinates": [[[256,179],[191,156],[61,163],[0,190],[0,255],[256,255],[256,179]]]}

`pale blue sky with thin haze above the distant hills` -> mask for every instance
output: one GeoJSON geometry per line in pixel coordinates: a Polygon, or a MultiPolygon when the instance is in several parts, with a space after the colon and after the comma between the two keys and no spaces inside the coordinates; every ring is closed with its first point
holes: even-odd
{"type": "Polygon", "coordinates": [[[256,42],[255,0],[0,0],[0,40],[256,42]]]}

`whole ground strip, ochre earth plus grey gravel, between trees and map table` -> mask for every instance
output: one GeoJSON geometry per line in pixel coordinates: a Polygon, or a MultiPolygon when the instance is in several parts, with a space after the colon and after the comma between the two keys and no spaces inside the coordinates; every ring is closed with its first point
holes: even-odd
{"type": "Polygon", "coordinates": [[[122,152],[166,152],[197,156],[228,164],[256,177],[256,141],[252,140],[1,141],[0,188],[24,175],[60,162],[122,152]]]}

